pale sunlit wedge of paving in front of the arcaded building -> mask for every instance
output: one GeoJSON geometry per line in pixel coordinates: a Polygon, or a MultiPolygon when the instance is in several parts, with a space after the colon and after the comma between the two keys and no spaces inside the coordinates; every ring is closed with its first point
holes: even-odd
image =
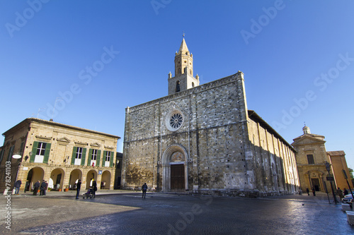
{"type": "MultiPolygon", "coordinates": [[[[4,205],[4,200],[0,199],[0,205],[4,205]]],[[[46,198],[45,196],[13,197],[11,198],[10,234],[16,234],[33,227],[45,228],[53,223],[60,224],[62,222],[90,219],[129,210],[139,210],[139,208],[93,203],[87,200],[46,198]]],[[[1,207],[0,215],[1,218],[6,216],[6,208],[1,207]]],[[[1,224],[0,234],[9,233],[3,224],[1,224]]]]}

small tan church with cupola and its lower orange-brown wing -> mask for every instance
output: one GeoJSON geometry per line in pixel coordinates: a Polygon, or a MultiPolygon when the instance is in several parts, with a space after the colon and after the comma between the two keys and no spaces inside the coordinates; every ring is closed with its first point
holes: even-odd
{"type": "MultiPolygon", "coordinates": [[[[344,169],[350,178],[344,151],[326,152],[324,135],[312,134],[308,126],[304,126],[302,131],[304,134],[295,138],[292,143],[297,150],[297,170],[302,191],[306,191],[307,188],[311,191],[311,188],[314,188],[315,191],[326,192],[327,188],[331,192],[325,162],[331,164],[331,175],[334,177],[333,188],[348,188],[342,173],[344,169]]],[[[353,186],[350,184],[350,187],[353,186]]]]}

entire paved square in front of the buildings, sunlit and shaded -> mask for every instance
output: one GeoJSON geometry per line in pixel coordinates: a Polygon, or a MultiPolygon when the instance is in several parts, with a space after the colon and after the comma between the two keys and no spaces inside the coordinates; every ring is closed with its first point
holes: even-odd
{"type": "Polygon", "coordinates": [[[11,231],[0,196],[0,234],[354,234],[325,194],[219,198],[147,193],[12,195],[11,231]]]}

